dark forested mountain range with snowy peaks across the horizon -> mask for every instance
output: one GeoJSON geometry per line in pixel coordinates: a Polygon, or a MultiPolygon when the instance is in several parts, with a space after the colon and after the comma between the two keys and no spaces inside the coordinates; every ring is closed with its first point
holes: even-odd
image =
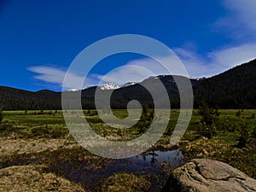
{"type": "MultiPolygon", "coordinates": [[[[102,84],[100,94],[104,96],[113,91],[111,105],[113,108],[126,108],[131,100],[147,102],[154,106],[153,98],[142,84],[155,90],[157,79],[165,85],[172,108],[179,108],[179,94],[174,79],[183,76],[160,75],[149,77],[139,84],[131,82],[119,87],[116,84],[102,84]],[[175,78],[173,78],[175,77],[175,78]]],[[[256,60],[241,64],[211,78],[189,79],[194,92],[194,105],[200,102],[218,108],[256,108],[256,60]]],[[[95,108],[96,86],[81,90],[83,108],[95,108]]],[[[66,91],[65,94],[78,94],[77,90],[66,91]]],[[[0,108],[3,110],[40,110],[61,109],[61,92],[39,90],[36,92],[0,86],[0,108]]]]}

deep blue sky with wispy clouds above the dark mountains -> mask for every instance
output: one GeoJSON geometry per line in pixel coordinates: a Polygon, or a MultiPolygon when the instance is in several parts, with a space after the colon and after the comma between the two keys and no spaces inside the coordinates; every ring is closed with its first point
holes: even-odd
{"type": "MultiPolygon", "coordinates": [[[[81,50],[119,34],[155,38],[179,56],[189,76],[209,77],[256,57],[255,9],[255,0],[1,1],[0,85],[61,90],[81,50]]],[[[120,66],[125,70],[109,81],[142,80],[127,75],[138,63],[162,73],[142,55],[113,55],[91,70],[90,84],[120,66]]]]}

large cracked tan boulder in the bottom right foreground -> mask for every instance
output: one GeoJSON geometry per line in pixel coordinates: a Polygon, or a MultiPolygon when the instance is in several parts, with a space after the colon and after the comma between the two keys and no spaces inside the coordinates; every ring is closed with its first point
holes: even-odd
{"type": "Polygon", "coordinates": [[[256,191],[256,180],[217,160],[190,160],[189,163],[174,170],[170,179],[171,191],[256,191]]]}

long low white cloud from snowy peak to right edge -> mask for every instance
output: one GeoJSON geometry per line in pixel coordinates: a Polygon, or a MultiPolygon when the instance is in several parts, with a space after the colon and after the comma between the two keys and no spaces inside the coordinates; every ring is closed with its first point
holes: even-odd
{"type": "MultiPolygon", "coordinates": [[[[207,53],[206,56],[198,55],[194,50],[176,48],[173,49],[183,66],[186,68],[190,77],[211,77],[218,73],[222,73],[231,67],[235,67],[241,63],[251,61],[256,58],[256,44],[241,44],[236,47],[217,49],[207,53]]],[[[164,63],[171,66],[171,74],[185,75],[175,70],[175,65],[180,65],[173,56],[165,56],[158,58],[164,63]]],[[[124,67],[120,67],[107,76],[99,75],[98,79],[104,78],[104,82],[113,82],[122,84],[129,81],[141,81],[148,78],[149,73],[145,69],[151,71],[151,75],[169,74],[166,69],[157,61],[149,58],[130,61],[124,67]]]]}

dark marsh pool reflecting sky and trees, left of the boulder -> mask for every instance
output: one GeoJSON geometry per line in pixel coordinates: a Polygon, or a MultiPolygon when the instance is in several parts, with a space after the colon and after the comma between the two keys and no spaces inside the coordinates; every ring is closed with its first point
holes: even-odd
{"type": "MultiPolygon", "coordinates": [[[[105,159],[106,160],[106,159],[105,159]]],[[[151,150],[132,158],[121,160],[107,160],[106,166],[101,169],[90,169],[83,161],[73,164],[70,161],[61,161],[49,167],[51,172],[60,174],[75,183],[80,183],[89,191],[101,191],[100,183],[118,172],[135,173],[146,176],[150,183],[149,192],[160,191],[168,179],[168,169],[183,165],[183,154],[180,149],[160,151],[151,150]],[[61,167],[61,168],[60,168],[61,167]],[[152,177],[155,175],[155,177],[152,177]],[[151,178],[152,177],[152,178],[151,178]]]]}

